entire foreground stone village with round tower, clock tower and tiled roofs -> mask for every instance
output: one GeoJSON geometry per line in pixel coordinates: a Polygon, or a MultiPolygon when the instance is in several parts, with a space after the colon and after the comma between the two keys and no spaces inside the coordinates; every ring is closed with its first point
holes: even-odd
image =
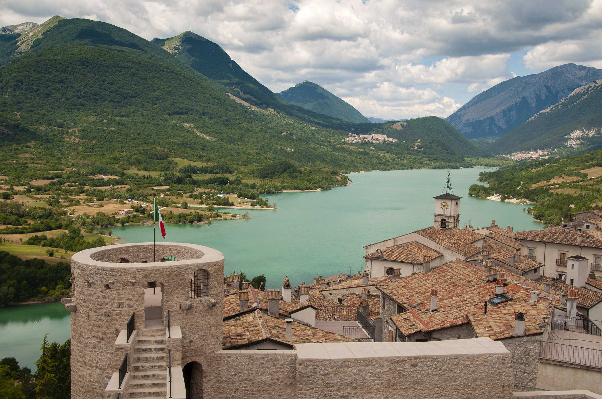
{"type": "Polygon", "coordinates": [[[602,212],[515,233],[460,228],[449,177],[433,199],[363,271],[281,290],[199,245],[73,255],[72,397],[598,398],[602,212]]]}

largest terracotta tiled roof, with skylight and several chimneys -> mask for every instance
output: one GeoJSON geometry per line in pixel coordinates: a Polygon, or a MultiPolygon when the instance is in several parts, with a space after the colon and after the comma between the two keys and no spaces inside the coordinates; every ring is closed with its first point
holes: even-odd
{"type": "Polygon", "coordinates": [[[473,323],[474,320],[473,328],[479,337],[513,337],[514,323],[498,321],[506,320],[510,313],[514,319],[514,306],[535,309],[535,315],[527,319],[526,331],[527,334],[541,334],[539,326],[545,326],[544,316],[550,314],[551,298],[536,282],[508,271],[506,275],[509,285],[504,287],[504,293],[513,300],[497,307],[488,306],[487,314],[483,314],[483,303],[495,296],[495,283],[488,282],[485,269],[462,261],[446,263],[428,273],[418,273],[395,282],[388,281],[377,285],[377,288],[408,309],[407,312],[391,316],[391,320],[406,336],[419,331],[430,332],[473,323]],[[432,288],[438,293],[437,310],[434,312],[430,312],[432,288]],[[529,302],[530,290],[539,291],[538,302],[529,302]]]}

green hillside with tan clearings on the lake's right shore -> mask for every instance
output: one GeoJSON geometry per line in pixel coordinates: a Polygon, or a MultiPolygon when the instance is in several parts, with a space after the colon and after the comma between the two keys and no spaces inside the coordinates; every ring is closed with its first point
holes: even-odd
{"type": "Polygon", "coordinates": [[[600,209],[602,150],[480,172],[479,180],[489,187],[473,184],[469,195],[485,198],[497,193],[502,199],[526,198],[536,203],[531,210],[534,218],[559,225],[570,212],[600,209]]]}

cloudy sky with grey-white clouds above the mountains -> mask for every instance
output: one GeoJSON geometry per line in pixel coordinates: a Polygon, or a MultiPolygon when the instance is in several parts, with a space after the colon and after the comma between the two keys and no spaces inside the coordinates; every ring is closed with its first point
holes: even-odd
{"type": "Polygon", "coordinates": [[[272,91],[312,81],[368,117],[447,117],[514,76],[602,68],[602,0],[0,0],[0,26],[57,14],[193,31],[272,91]]]}

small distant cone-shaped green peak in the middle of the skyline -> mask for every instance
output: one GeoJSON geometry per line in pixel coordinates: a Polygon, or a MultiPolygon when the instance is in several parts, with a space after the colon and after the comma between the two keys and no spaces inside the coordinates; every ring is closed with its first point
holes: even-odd
{"type": "Polygon", "coordinates": [[[370,123],[349,103],[319,85],[304,81],[288,90],[276,93],[287,103],[301,106],[319,114],[355,123],[370,123]]]}

